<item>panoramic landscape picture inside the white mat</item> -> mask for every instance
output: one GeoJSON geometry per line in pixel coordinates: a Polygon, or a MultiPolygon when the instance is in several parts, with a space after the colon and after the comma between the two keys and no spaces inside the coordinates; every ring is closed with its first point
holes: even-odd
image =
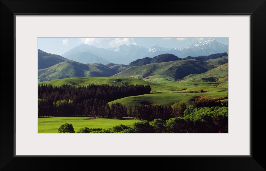
{"type": "Polygon", "coordinates": [[[58,132],[228,133],[228,38],[38,38],[38,133],[58,132]]]}

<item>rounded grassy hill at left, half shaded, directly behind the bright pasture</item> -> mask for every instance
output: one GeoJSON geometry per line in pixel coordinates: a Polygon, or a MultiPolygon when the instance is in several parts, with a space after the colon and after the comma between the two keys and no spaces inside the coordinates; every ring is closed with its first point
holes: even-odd
{"type": "Polygon", "coordinates": [[[103,64],[82,64],[79,62],[61,62],[54,66],[38,70],[39,82],[62,78],[111,76],[115,72],[103,64]]]}

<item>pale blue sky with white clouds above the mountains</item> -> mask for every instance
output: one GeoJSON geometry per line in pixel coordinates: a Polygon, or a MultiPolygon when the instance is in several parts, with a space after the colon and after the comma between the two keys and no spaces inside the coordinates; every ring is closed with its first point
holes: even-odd
{"type": "Polygon", "coordinates": [[[137,45],[143,47],[186,48],[197,42],[215,39],[228,45],[228,38],[38,38],[38,49],[56,55],[63,55],[68,50],[84,43],[99,48],[113,48],[120,45],[137,45]]]}

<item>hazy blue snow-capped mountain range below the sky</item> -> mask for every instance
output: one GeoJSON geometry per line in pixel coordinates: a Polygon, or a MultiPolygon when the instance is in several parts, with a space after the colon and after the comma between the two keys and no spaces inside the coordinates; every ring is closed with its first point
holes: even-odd
{"type": "Polygon", "coordinates": [[[181,49],[164,48],[159,45],[149,48],[137,45],[121,45],[117,48],[104,49],[92,45],[81,44],[61,56],[70,60],[75,59],[75,61],[84,64],[92,61],[101,64],[129,64],[140,58],[154,57],[164,53],[170,53],[179,58],[184,58],[187,56],[208,56],[210,54],[224,52],[228,53],[228,45],[224,45],[211,39],[204,42],[197,42],[187,48],[181,49]]]}

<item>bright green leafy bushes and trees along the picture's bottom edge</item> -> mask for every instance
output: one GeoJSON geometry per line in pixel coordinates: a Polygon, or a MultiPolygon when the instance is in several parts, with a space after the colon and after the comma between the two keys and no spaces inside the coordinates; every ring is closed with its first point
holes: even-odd
{"type": "MultiPolygon", "coordinates": [[[[74,128],[65,132],[74,132],[74,128]]],[[[228,107],[190,106],[183,117],[144,120],[132,126],[121,124],[107,129],[84,127],[77,133],[228,133],[228,107]]]]}

